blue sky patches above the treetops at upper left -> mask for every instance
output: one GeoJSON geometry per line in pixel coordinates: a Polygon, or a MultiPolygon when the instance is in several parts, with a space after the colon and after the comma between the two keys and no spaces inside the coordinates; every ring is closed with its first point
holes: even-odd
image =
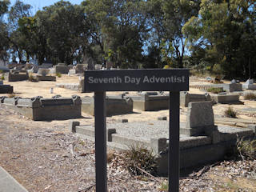
{"type": "MultiPolygon", "coordinates": [[[[37,10],[42,10],[42,7],[54,5],[54,3],[58,2],[59,0],[20,0],[20,1],[26,4],[30,4],[30,6],[33,6],[31,10],[32,12],[36,13],[37,10]]],[[[13,6],[15,2],[16,0],[10,0],[10,3],[11,3],[10,6],[13,6]]],[[[82,2],[82,0],[70,0],[68,2],[79,5],[82,2]]]]}

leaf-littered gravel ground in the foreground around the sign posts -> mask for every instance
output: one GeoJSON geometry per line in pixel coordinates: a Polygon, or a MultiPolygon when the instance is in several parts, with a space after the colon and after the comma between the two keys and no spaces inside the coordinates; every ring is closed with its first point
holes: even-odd
{"type": "MultiPolygon", "coordinates": [[[[0,106],[0,166],[29,191],[94,191],[94,142],[68,122],[34,122],[0,106]]],[[[133,176],[108,150],[109,191],[164,191],[166,178],[133,176]],[[160,190],[162,189],[162,190],[160,190]]],[[[180,191],[256,191],[256,160],[225,161],[182,175],[180,191]]]]}

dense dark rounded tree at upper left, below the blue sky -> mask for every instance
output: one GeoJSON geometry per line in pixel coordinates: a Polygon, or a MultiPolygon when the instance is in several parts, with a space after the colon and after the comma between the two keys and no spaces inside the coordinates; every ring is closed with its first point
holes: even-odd
{"type": "Polygon", "coordinates": [[[54,64],[73,64],[80,58],[87,33],[82,6],[59,1],[39,10],[35,17],[39,30],[45,33],[47,59],[54,64]]]}

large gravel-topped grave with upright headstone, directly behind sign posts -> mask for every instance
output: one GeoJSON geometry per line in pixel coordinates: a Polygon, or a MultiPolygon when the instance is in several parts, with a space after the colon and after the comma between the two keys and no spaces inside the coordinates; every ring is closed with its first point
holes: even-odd
{"type": "MultiPolygon", "coordinates": [[[[222,160],[238,138],[255,136],[255,125],[248,128],[215,126],[211,102],[190,102],[186,123],[180,123],[181,168],[222,160]]],[[[117,122],[107,124],[107,146],[127,150],[130,146],[145,146],[158,155],[158,174],[167,174],[169,122],[117,122]]],[[[70,122],[70,131],[94,140],[94,126],[70,122]]]]}

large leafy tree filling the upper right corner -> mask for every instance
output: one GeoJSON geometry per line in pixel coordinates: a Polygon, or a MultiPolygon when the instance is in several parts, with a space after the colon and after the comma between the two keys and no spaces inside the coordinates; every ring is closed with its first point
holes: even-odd
{"type": "Polygon", "coordinates": [[[211,71],[228,78],[255,75],[255,5],[254,0],[202,0],[199,16],[183,27],[193,50],[205,50],[202,62],[211,71]]]}

